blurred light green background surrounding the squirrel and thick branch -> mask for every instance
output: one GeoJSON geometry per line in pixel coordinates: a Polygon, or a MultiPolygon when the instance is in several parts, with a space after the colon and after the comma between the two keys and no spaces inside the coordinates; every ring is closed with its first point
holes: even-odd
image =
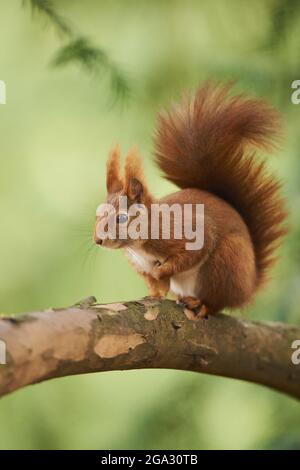
{"type": "MultiPolygon", "coordinates": [[[[283,180],[291,230],[272,282],[241,315],[299,323],[300,105],[291,83],[300,79],[300,1],[60,0],[44,11],[38,3],[0,6],[1,311],[146,294],[121,252],[90,246],[107,152],[116,141],[123,152],[137,144],[150,187],[166,194],[171,185],[151,160],[155,114],[213,78],[236,80],[237,91],[283,114],[270,167],[283,180]]],[[[260,386],[188,372],[68,377],[0,401],[0,447],[300,448],[300,407],[260,386]]]]}

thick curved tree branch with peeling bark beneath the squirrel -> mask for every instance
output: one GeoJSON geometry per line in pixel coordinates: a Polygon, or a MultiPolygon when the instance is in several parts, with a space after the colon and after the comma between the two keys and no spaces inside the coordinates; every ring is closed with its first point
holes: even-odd
{"type": "Polygon", "coordinates": [[[186,313],[171,300],[146,298],[1,318],[7,364],[0,365],[0,395],[72,374],[168,368],[248,380],[300,398],[300,366],[291,361],[300,328],[223,314],[196,321],[186,313]]]}

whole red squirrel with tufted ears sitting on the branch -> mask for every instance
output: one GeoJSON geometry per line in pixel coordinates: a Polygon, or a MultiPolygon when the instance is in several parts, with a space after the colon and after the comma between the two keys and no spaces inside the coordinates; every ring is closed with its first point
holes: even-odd
{"type": "Polygon", "coordinates": [[[204,204],[203,246],[187,250],[187,240],[176,239],[174,227],[170,239],[163,239],[160,229],[158,239],[136,240],[105,238],[95,229],[95,243],[124,249],[150,296],[170,291],[195,316],[249,304],[268,279],[274,250],[286,233],[281,185],[253,149],[271,149],[279,130],[277,112],[264,101],[232,96],[230,85],[205,83],[158,116],[156,163],[180,190],[155,199],[137,151],[129,151],[121,175],[116,146],[106,178],[106,202],[114,214],[98,214],[95,225],[113,217],[120,227],[134,219],[120,211],[120,196],[127,196],[129,208],[146,207],[150,225],[154,203],[204,204]]]}

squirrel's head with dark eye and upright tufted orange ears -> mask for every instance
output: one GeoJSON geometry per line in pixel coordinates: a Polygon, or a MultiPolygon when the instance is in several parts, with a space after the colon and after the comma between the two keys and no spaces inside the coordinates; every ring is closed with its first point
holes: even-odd
{"type": "Polygon", "coordinates": [[[106,189],[106,201],[96,212],[94,242],[107,248],[141,246],[145,239],[131,235],[139,231],[143,217],[148,219],[152,197],[136,149],[128,152],[121,175],[119,146],[112,148],[107,160],[106,189]]]}

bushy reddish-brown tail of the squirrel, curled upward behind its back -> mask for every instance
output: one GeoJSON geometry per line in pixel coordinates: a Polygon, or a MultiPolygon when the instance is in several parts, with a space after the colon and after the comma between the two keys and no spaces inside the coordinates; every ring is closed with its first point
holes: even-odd
{"type": "Polygon", "coordinates": [[[239,212],[252,238],[259,286],[286,231],[285,212],[279,181],[246,147],[271,148],[279,118],[263,101],[231,97],[229,90],[230,85],[206,83],[193,98],[160,114],[156,160],[180,188],[210,191],[239,212]]]}

